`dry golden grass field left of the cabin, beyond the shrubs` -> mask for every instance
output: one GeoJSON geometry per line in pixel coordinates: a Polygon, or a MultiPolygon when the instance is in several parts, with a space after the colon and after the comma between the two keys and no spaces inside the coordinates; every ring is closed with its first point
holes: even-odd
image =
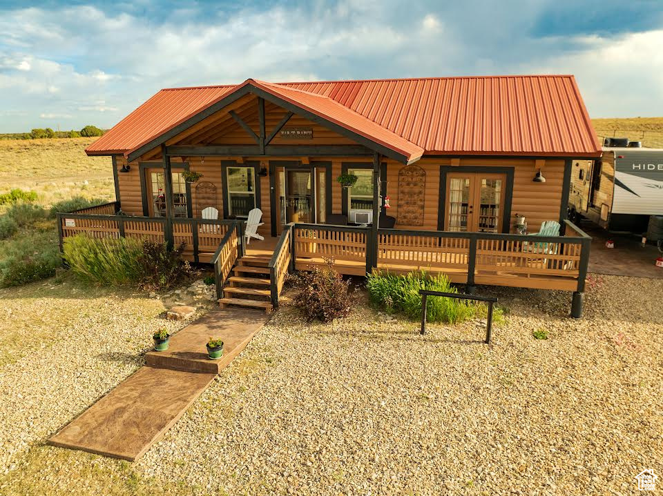
{"type": "Polygon", "coordinates": [[[77,195],[113,199],[110,157],[84,152],[95,139],[0,140],[0,193],[33,190],[44,205],[77,195]]]}

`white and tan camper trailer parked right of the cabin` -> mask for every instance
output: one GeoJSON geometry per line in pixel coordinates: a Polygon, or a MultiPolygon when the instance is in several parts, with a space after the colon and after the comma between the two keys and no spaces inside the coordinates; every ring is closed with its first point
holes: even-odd
{"type": "Polygon", "coordinates": [[[597,160],[573,161],[569,216],[656,241],[663,237],[663,149],[628,144],[605,146],[597,160]]]}

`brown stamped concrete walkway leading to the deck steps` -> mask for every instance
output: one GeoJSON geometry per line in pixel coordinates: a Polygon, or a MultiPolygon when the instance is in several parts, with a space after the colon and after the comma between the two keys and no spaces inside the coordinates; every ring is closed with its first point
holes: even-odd
{"type": "Polygon", "coordinates": [[[146,366],[51,437],[49,444],[133,462],[175,424],[268,319],[258,310],[213,310],[173,335],[167,351],[147,353],[146,366]],[[222,359],[207,358],[210,336],[223,339],[222,359]]]}

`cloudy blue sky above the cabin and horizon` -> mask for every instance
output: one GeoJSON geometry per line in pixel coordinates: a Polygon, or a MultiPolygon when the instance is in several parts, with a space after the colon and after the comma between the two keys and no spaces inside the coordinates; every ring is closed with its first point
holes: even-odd
{"type": "Polygon", "coordinates": [[[564,73],[592,117],[663,116],[662,0],[0,0],[0,32],[0,132],[249,77],[564,73]]]}

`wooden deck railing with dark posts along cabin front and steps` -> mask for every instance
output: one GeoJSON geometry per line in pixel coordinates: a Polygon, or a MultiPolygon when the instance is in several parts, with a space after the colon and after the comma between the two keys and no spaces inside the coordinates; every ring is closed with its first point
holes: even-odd
{"type": "MultiPolygon", "coordinates": [[[[108,206],[102,208],[108,210],[108,206]]],[[[91,214],[58,214],[61,239],[83,233],[97,238],[163,241],[167,235],[164,218],[95,215],[94,209],[91,210],[91,214]]],[[[487,284],[582,292],[591,241],[568,221],[563,236],[380,229],[376,241],[372,240],[370,228],[289,224],[280,237],[251,239],[242,247],[241,224],[235,221],[173,219],[172,222],[174,243],[186,245],[185,259],[215,264],[220,294],[233,265],[242,255],[271,261],[280,247],[278,263],[272,267],[278,272],[271,284],[274,304],[284,270],[307,270],[325,264],[326,258],[333,258],[336,270],[344,275],[361,276],[374,268],[396,273],[425,270],[443,273],[452,282],[468,286],[487,284]],[[289,238],[284,244],[282,237],[286,235],[289,238]]]]}

